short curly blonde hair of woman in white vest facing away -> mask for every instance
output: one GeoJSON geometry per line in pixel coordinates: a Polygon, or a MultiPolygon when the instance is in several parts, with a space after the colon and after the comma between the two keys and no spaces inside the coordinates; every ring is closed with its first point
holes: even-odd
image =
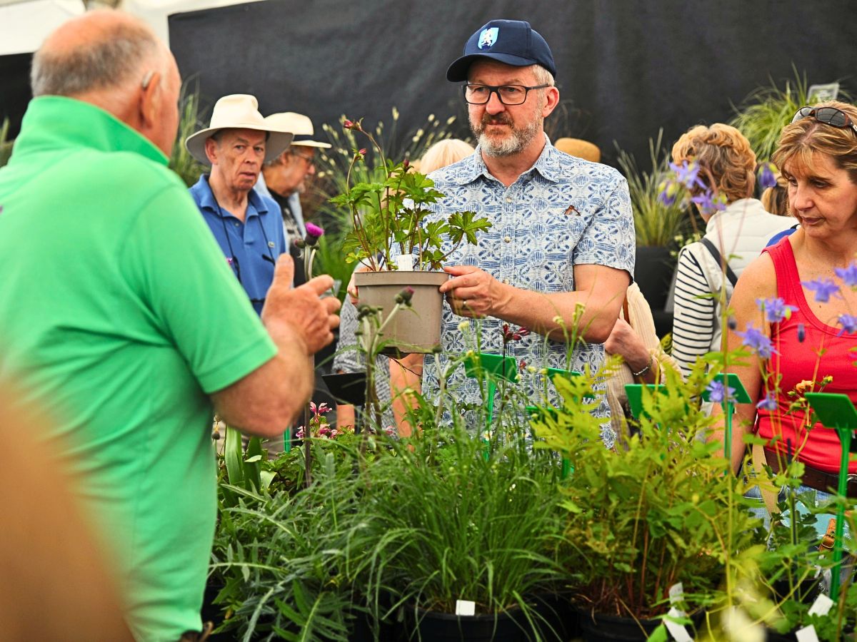
{"type": "Polygon", "coordinates": [[[728,203],[752,194],[756,176],[756,152],[744,134],[722,122],[697,125],[681,134],[673,146],[675,163],[696,161],[703,170],[699,180],[726,196],[728,203]],[[705,170],[708,171],[705,171],[705,170]],[[708,175],[710,172],[710,177],[708,175]],[[714,185],[709,185],[713,178],[714,185]]]}

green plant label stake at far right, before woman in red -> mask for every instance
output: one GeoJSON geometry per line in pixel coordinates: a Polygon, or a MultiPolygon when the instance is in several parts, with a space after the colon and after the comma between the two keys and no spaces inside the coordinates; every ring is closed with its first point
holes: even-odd
{"type": "MultiPolygon", "coordinates": [[[[825,428],[833,428],[842,442],[842,455],[839,457],[839,485],[836,493],[848,496],[848,455],[857,450],[854,430],[857,430],[857,410],[848,398],[832,392],[807,392],[806,401],[816,418],[825,428]]],[[[842,562],[842,532],[845,530],[845,506],[842,502],[836,507],[836,534],[833,538],[833,568],[830,571],[830,599],[839,598],[839,565],[842,562]]]]}

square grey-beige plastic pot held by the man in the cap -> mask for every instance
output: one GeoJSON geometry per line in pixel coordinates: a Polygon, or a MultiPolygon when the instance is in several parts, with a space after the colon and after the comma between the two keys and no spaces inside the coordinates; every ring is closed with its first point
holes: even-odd
{"type": "Polygon", "coordinates": [[[356,272],[354,281],[360,303],[383,308],[381,318],[396,306],[396,295],[404,288],[414,288],[411,309],[393,317],[384,329],[382,341],[388,341],[384,354],[430,353],[440,346],[440,318],[443,295],[438,288],[449,279],[446,272],[381,271],[356,272]]]}

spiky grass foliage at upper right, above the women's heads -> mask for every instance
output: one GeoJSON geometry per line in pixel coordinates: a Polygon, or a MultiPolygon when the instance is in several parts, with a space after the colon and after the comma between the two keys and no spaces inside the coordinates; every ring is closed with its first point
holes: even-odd
{"type": "MultiPolygon", "coordinates": [[[[782,128],[792,122],[794,113],[806,104],[818,102],[815,97],[807,95],[809,82],[806,72],[800,74],[794,65],[792,69],[794,79],[786,80],[784,86],[778,86],[771,78],[769,86],[758,87],[740,107],[733,107],[735,116],[729,124],[750,141],[760,163],[770,159],[782,128]]],[[[848,100],[848,96],[841,99],[848,100]]]]}

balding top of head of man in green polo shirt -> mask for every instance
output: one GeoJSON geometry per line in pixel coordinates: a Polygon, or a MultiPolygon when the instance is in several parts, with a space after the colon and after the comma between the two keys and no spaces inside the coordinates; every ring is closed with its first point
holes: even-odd
{"type": "Polygon", "coordinates": [[[33,96],[81,98],[139,84],[167,68],[164,45],[145,23],[120,11],[93,11],[65,22],[33,56],[33,96]]]}

